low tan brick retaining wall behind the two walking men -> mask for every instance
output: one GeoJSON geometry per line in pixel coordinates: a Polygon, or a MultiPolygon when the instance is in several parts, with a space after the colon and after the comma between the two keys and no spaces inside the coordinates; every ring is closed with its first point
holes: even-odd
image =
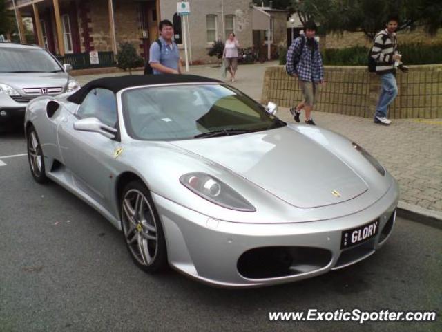
{"type": "MultiPolygon", "coordinates": [[[[397,74],[398,96],[390,106],[390,118],[442,118],[442,65],[410,66],[409,73],[397,74]]],[[[371,118],[381,89],[378,75],[361,66],[325,66],[317,111],[371,118]]],[[[265,72],[262,102],[282,107],[302,99],[298,80],[289,77],[284,66],[265,72]]]]}

